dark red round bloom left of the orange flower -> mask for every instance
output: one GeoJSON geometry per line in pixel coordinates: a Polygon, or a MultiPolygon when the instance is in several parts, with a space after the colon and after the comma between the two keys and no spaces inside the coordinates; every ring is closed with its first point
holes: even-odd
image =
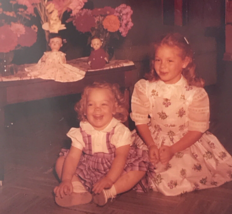
{"type": "Polygon", "coordinates": [[[75,19],[73,20],[73,24],[75,25],[78,31],[82,33],[90,32],[92,27],[95,27],[94,17],[89,13],[77,14],[75,19]]]}

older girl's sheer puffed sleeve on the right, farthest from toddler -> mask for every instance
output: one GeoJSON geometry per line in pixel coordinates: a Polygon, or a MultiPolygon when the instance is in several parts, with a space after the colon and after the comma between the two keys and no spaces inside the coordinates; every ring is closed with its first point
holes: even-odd
{"type": "Polygon", "coordinates": [[[204,133],[209,128],[209,97],[203,88],[195,88],[189,105],[189,130],[204,133]]]}

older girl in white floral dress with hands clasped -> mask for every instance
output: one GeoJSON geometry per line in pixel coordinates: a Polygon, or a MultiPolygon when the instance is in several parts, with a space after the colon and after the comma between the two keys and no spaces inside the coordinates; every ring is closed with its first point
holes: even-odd
{"type": "Polygon", "coordinates": [[[231,181],[232,158],[207,131],[209,99],[185,37],[168,34],[155,46],[148,80],[134,87],[131,118],[141,137],[134,133],[134,143],[155,165],[149,188],[175,196],[231,181]]]}

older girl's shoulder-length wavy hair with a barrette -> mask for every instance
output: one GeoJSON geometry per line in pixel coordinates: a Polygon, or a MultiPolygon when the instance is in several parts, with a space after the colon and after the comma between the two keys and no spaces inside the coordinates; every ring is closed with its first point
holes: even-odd
{"type": "Polygon", "coordinates": [[[156,81],[160,79],[154,68],[154,58],[156,50],[162,45],[178,47],[182,52],[182,59],[188,57],[189,63],[186,66],[186,68],[183,69],[182,75],[185,77],[189,85],[203,87],[204,80],[198,77],[195,71],[196,65],[193,59],[193,50],[186,37],[182,36],[179,33],[169,33],[166,36],[164,36],[159,42],[155,43],[154,56],[153,60],[151,60],[150,72],[146,74],[145,77],[150,81],[156,81]]]}

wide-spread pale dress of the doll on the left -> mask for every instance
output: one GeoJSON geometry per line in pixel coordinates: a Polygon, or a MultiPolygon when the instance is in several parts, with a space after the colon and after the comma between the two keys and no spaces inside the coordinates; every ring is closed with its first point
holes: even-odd
{"type": "Polygon", "coordinates": [[[65,53],[61,51],[47,51],[44,57],[44,62],[41,58],[37,64],[25,68],[28,76],[57,82],[75,82],[85,76],[84,71],[62,62],[65,53]]]}

